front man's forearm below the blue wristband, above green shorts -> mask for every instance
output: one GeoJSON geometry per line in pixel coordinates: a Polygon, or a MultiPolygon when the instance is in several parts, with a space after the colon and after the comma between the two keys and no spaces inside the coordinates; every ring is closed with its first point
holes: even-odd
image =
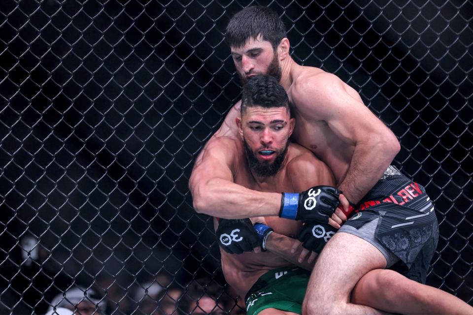
{"type": "Polygon", "coordinates": [[[315,261],[310,264],[307,263],[307,260],[304,260],[303,262],[299,262],[298,261],[299,253],[298,252],[291,253],[291,249],[294,245],[294,242],[297,242],[297,240],[290,238],[288,236],[282,235],[282,234],[272,232],[268,236],[266,248],[268,249],[269,252],[272,252],[278,255],[279,257],[284,258],[288,262],[311,271],[315,264],[315,261]]]}

